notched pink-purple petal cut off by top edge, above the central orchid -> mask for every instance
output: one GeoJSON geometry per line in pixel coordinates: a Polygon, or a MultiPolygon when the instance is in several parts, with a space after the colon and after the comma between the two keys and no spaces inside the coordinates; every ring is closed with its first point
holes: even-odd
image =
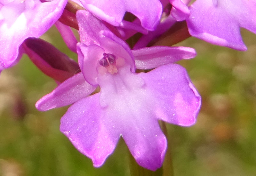
{"type": "Polygon", "coordinates": [[[111,25],[118,26],[126,11],[140,19],[141,26],[154,30],[162,14],[159,0],[80,0],[85,9],[111,25]]]}

